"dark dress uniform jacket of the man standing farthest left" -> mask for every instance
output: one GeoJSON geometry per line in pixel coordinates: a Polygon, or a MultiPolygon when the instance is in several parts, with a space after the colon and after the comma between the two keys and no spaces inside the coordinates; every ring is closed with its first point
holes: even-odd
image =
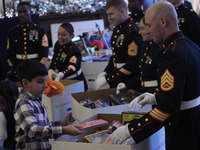
{"type": "Polygon", "coordinates": [[[7,41],[8,64],[16,77],[17,66],[26,59],[42,62],[48,57],[48,39],[37,24],[19,24],[12,28],[7,41]]]}

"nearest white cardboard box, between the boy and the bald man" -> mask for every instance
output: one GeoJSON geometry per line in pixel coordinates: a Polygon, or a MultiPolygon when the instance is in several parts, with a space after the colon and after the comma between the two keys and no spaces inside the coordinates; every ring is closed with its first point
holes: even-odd
{"type": "MultiPolygon", "coordinates": [[[[121,114],[97,114],[88,118],[86,121],[94,119],[104,119],[109,122],[109,125],[113,120],[121,120],[121,114]]],[[[108,126],[109,126],[108,125],[108,126]]],[[[108,126],[100,127],[99,130],[106,130],[108,126]]],[[[157,131],[155,134],[140,142],[139,144],[133,143],[131,145],[118,145],[118,144],[94,144],[94,143],[82,143],[82,139],[85,135],[94,133],[96,130],[90,130],[79,136],[73,136],[77,138],[79,142],[67,142],[69,135],[63,135],[56,140],[52,141],[52,150],[165,150],[165,136],[164,128],[157,131]]],[[[131,142],[130,142],[131,143],[131,142]]]]}

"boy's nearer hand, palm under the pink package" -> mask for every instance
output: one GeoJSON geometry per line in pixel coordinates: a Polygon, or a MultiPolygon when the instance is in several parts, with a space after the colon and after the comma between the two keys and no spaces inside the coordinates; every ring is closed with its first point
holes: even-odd
{"type": "Polygon", "coordinates": [[[80,128],[80,126],[78,126],[78,125],[64,126],[64,127],[62,127],[62,133],[74,135],[74,136],[84,133],[84,131],[81,131],[79,128],[80,128]]]}

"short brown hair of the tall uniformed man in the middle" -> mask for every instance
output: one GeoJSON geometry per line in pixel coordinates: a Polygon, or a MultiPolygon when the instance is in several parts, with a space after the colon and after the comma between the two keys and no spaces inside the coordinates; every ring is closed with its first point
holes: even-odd
{"type": "Polygon", "coordinates": [[[128,6],[124,0],[108,0],[106,3],[106,10],[112,6],[117,9],[128,10],[128,6]]]}

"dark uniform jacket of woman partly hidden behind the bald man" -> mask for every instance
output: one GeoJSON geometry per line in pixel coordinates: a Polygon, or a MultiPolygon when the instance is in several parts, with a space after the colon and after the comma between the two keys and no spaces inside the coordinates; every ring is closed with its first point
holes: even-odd
{"type": "Polygon", "coordinates": [[[145,52],[139,63],[140,75],[125,81],[126,87],[141,93],[156,93],[158,91],[158,60],[161,55],[162,47],[160,44],[153,41],[146,42],[145,52]]]}

